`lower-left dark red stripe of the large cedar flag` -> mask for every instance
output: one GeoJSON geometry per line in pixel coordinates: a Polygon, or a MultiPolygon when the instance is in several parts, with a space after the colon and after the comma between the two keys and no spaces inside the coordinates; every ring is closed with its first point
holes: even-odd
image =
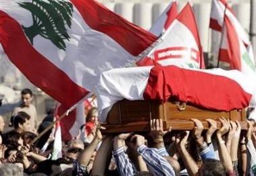
{"type": "Polygon", "coordinates": [[[88,93],[37,52],[28,42],[20,24],[3,11],[0,11],[0,42],[11,62],[34,85],[67,107],[88,93]]]}

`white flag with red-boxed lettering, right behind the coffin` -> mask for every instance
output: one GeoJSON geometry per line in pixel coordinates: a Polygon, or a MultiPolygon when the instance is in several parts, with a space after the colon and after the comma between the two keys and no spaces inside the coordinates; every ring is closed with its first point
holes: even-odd
{"type": "Polygon", "coordinates": [[[147,58],[136,62],[138,66],[173,64],[184,68],[205,68],[197,23],[190,3],[186,4],[160,38],[163,42],[151,50],[147,58]]]}

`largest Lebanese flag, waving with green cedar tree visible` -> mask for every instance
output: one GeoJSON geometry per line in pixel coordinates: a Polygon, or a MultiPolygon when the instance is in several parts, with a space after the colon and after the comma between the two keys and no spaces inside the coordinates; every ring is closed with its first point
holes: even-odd
{"type": "Polygon", "coordinates": [[[5,54],[67,108],[95,90],[103,71],[128,67],[155,40],[97,1],[1,1],[5,54]]]}

